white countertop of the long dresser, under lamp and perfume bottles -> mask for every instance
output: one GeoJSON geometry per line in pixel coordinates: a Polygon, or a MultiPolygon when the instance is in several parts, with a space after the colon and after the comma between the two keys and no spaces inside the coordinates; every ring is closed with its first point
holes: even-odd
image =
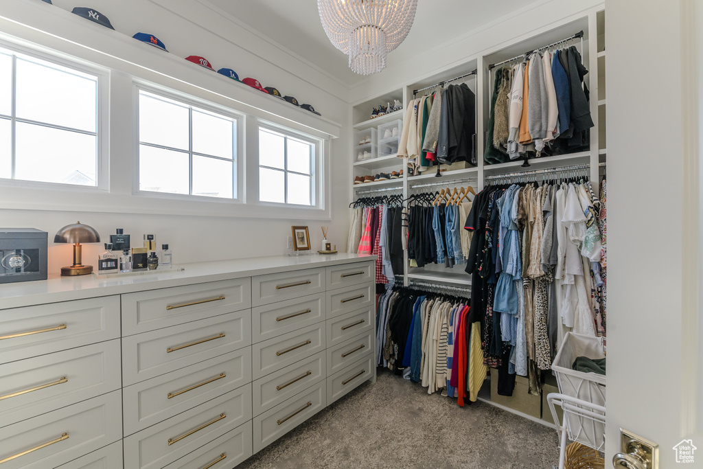
{"type": "Polygon", "coordinates": [[[58,273],[47,280],[0,284],[0,309],[33,304],[81,300],[83,298],[120,295],[155,288],[176,287],[230,278],[276,274],[330,265],[374,260],[375,256],[340,253],[335,255],[272,256],[232,259],[215,262],[178,264],[183,271],[157,271],[144,275],[96,278],[91,275],[62,277],[58,273]]]}

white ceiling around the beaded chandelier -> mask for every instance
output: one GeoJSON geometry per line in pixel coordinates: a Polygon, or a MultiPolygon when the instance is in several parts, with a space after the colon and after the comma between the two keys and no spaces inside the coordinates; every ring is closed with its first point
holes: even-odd
{"type": "MultiPolygon", "coordinates": [[[[415,23],[407,39],[389,53],[387,66],[510,15],[543,0],[418,0],[415,23]]],[[[285,49],[305,58],[345,84],[363,77],[349,70],[348,58],[330,44],[314,0],[209,0],[285,49]]]]}

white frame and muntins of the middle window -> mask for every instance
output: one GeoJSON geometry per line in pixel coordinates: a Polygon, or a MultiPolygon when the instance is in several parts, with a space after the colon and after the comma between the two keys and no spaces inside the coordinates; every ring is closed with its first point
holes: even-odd
{"type": "MultiPolygon", "coordinates": [[[[180,94],[174,90],[169,90],[162,88],[160,86],[153,86],[139,81],[134,81],[134,159],[132,162],[132,194],[138,195],[139,197],[149,197],[149,198],[167,198],[174,200],[199,200],[207,203],[225,203],[225,204],[242,204],[245,201],[245,184],[244,184],[244,167],[243,160],[246,158],[245,148],[243,143],[243,136],[245,135],[245,115],[242,113],[237,113],[235,110],[224,108],[222,106],[216,105],[214,103],[208,103],[207,101],[198,100],[198,98],[193,98],[192,96],[187,96],[180,94]],[[166,150],[179,151],[181,153],[188,153],[189,159],[189,173],[188,178],[190,179],[190,185],[192,190],[193,184],[193,155],[202,155],[212,158],[212,155],[205,155],[204,153],[197,153],[193,151],[193,109],[200,108],[212,113],[223,115],[224,117],[236,120],[236,140],[237,145],[234,148],[236,154],[234,155],[233,168],[235,174],[233,175],[233,186],[236,191],[236,197],[234,198],[224,198],[224,197],[208,197],[207,195],[191,195],[191,194],[174,194],[174,193],[163,193],[155,191],[141,191],[139,188],[139,155],[140,155],[140,145],[141,139],[139,138],[139,93],[140,91],[146,91],[149,94],[155,94],[156,96],[162,96],[163,98],[177,101],[184,105],[191,106],[189,111],[189,133],[188,136],[188,150],[183,150],[181,148],[172,148],[167,146],[155,145],[152,143],[146,143],[148,146],[153,146],[154,148],[165,148],[166,150]]],[[[221,158],[216,158],[221,159],[221,158]]]]}

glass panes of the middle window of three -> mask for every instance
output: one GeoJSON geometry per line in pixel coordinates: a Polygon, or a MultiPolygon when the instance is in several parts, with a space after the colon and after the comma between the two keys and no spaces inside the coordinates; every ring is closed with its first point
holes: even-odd
{"type": "Polygon", "coordinates": [[[139,190],[237,198],[237,118],[139,91],[139,190]]]}

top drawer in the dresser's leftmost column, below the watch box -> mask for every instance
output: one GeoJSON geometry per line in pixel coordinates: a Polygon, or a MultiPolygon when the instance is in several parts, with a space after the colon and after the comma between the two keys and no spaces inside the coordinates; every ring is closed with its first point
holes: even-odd
{"type": "Polygon", "coordinates": [[[119,296],[0,311],[0,363],[119,337],[119,296]]]}

